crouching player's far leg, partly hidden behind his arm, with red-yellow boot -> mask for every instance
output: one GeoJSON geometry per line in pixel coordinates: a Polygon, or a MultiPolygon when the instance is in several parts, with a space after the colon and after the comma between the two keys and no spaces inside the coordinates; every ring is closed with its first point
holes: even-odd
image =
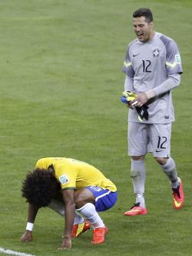
{"type": "MultiPolygon", "coordinates": [[[[60,200],[52,199],[51,203],[48,204],[48,207],[52,210],[56,211],[61,216],[65,216],[65,205],[60,200]]],[[[71,234],[72,237],[78,237],[81,233],[90,229],[90,224],[88,221],[81,217],[78,213],[74,213],[74,227],[73,232],[71,234]]]]}

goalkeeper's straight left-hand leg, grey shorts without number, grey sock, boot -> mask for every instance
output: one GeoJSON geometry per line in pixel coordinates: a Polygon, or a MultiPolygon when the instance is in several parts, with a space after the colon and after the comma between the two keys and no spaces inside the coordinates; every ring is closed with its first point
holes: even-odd
{"type": "Polygon", "coordinates": [[[144,155],[147,153],[147,126],[141,123],[128,125],[128,154],[131,155],[131,178],[135,194],[135,204],[130,211],[124,212],[126,216],[147,214],[144,200],[144,185],[146,170],[144,155]]]}

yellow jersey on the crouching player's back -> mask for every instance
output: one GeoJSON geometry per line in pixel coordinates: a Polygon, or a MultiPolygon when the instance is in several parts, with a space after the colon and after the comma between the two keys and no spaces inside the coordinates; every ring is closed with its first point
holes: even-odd
{"type": "Polygon", "coordinates": [[[92,165],[66,157],[41,158],[36,167],[48,170],[52,165],[55,170],[55,178],[61,184],[61,189],[79,190],[83,187],[98,186],[103,189],[116,191],[113,182],[92,165]]]}

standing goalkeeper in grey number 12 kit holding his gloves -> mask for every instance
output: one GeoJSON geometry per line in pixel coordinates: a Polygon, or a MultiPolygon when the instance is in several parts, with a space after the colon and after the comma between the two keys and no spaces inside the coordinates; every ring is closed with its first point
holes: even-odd
{"type": "Polygon", "coordinates": [[[134,12],[133,27],[137,39],[127,47],[121,98],[132,108],[129,109],[127,137],[135,204],[124,212],[126,216],[147,214],[144,199],[144,157],[147,152],[153,153],[168,177],[174,208],[178,210],[184,204],[182,182],[170,157],[171,125],[174,122],[171,91],[180,85],[183,72],[180,53],[173,39],[154,31],[153,15],[148,8],[134,12]]]}

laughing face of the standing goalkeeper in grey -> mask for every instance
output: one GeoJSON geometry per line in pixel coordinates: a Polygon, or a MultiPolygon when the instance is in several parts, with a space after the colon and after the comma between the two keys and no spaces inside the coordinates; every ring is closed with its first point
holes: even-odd
{"type": "Polygon", "coordinates": [[[134,18],[133,26],[140,42],[147,42],[154,37],[154,22],[147,22],[144,16],[134,18]]]}

